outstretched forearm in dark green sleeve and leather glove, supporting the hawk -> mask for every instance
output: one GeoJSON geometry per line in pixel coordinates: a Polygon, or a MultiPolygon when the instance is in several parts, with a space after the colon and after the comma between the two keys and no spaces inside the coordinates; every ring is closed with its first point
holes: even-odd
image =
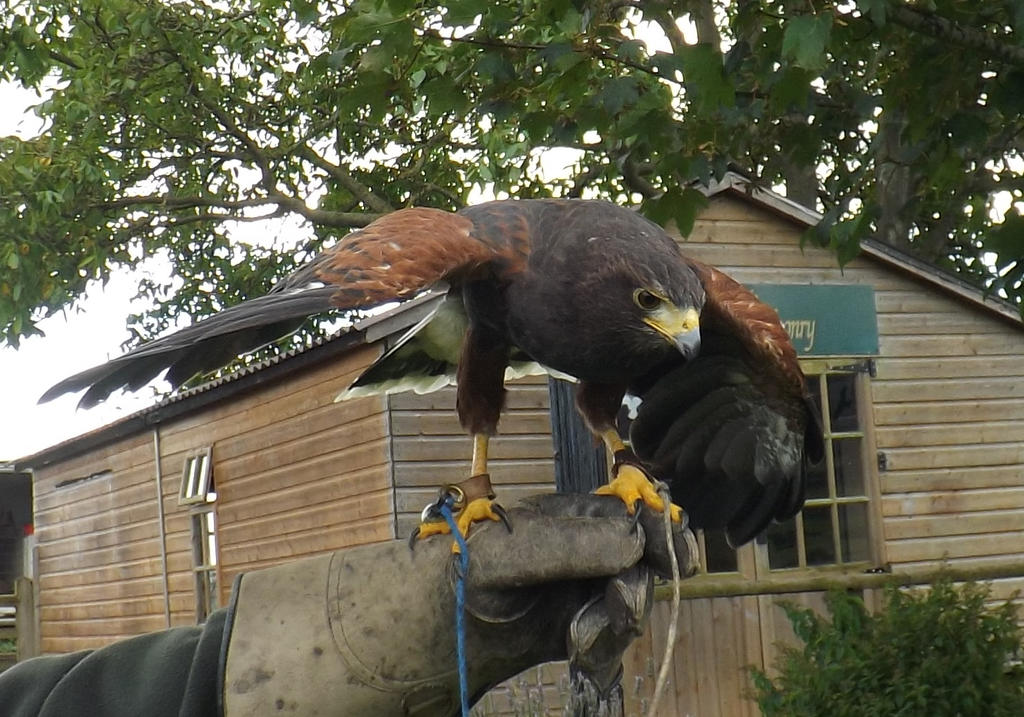
{"type": "MultiPolygon", "coordinates": [[[[530,666],[568,658],[570,714],[614,715],[622,655],[669,575],[663,516],[638,523],[617,498],[540,496],[514,532],[468,539],[466,653],[473,699],[530,666]]],[[[696,544],[673,525],[683,575],[696,544]]],[[[202,626],[37,658],[0,675],[5,717],[452,717],[456,556],[435,536],[255,571],[202,626]]]]}

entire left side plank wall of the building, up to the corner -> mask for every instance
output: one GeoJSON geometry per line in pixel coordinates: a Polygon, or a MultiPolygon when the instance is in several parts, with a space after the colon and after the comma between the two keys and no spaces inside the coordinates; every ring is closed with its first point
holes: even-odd
{"type": "MultiPolygon", "coordinates": [[[[195,623],[189,509],[178,505],[190,451],[212,447],[222,603],[243,571],[394,536],[384,402],[334,403],[376,351],[160,426],[173,625],[195,623]]],[[[154,457],[147,431],[36,472],[43,651],[166,627],[154,457]]]]}

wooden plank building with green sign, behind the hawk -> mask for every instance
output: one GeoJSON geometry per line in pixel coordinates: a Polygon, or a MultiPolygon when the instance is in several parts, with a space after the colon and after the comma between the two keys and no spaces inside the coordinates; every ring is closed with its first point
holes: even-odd
{"type": "MultiPolygon", "coordinates": [[[[701,537],[703,573],[686,584],[701,596],[684,602],[676,648],[679,715],[756,714],[743,667],[770,663],[787,632],[758,586],[998,570],[1024,554],[1019,314],[873,243],[840,269],[800,246],[816,220],[729,176],[684,243],[779,307],[821,398],[828,460],[801,516],[764,541],[732,551],[701,537]]],[[[408,535],[435,487],[468,468],[453,390],[334,397],[427,303],[18,461],[34,473],[42,649],[194,623],[243,571],[408,535]]],[[[553,489],[556,457],[546,381],[515,383],[508,403],[490,467],[512,502],[553,489]]],[[[628,656],[631,707],[653,682],[664,607],[628,656]]]]}

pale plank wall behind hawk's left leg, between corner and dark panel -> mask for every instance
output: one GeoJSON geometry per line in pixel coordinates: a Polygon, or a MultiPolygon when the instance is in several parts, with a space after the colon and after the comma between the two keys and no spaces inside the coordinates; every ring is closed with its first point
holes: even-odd
{"type": "MultiPolygon", "coordinates": [[[[459,425],[455,388],[388,397],[397,535],[408,536],[439,486],[469,477],[472,440],[459,425]]],[[[555,489],[547,377],[510,382],[506,410],[488,452],[499,502],[555,489]]]]}

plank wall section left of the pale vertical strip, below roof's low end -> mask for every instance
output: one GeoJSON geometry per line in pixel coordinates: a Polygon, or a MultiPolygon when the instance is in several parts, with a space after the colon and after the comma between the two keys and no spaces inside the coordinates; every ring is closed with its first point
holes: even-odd
{"type": "Polygon", "coordinates": [[[34,489],[42,651],[165,627],[152,434],[37,470],[34,489]]]}

